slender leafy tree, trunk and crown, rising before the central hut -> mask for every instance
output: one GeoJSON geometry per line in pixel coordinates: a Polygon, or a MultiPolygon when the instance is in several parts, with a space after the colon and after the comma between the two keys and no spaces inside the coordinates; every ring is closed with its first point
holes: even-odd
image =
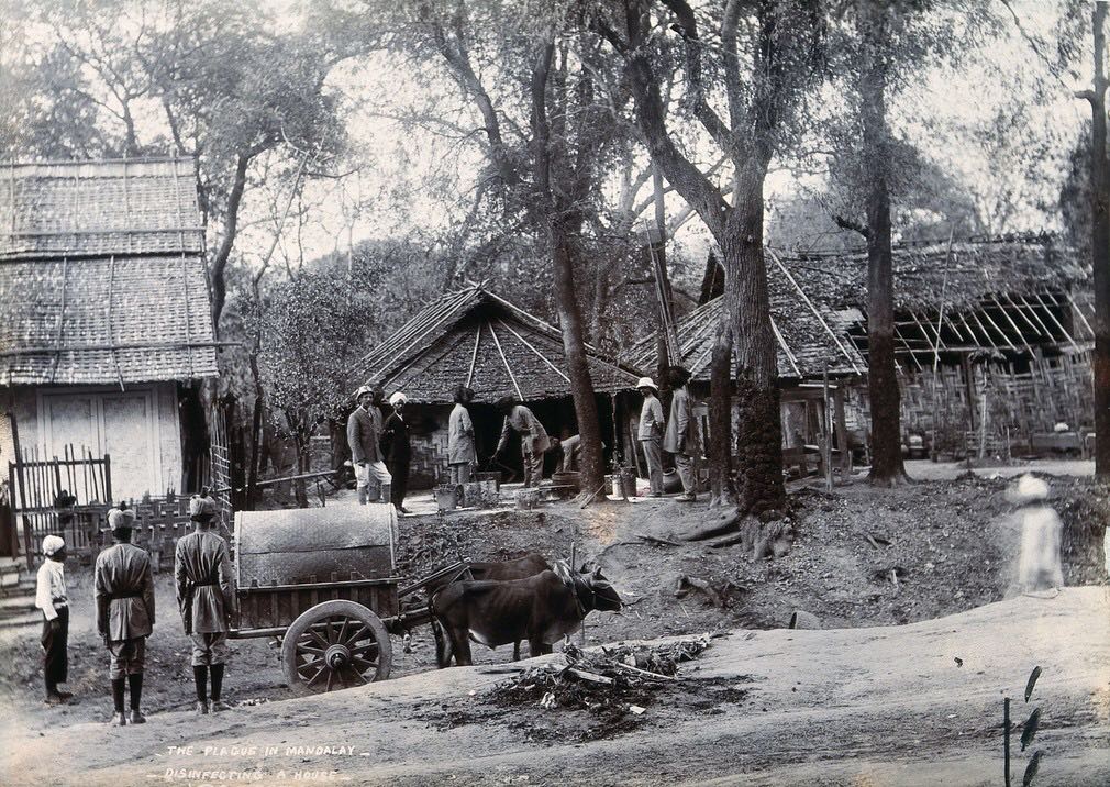
{"type": "Polygon", "coordinates": [[[605,165],[626,135],[606,107],[614,97],[599,74],[608,65],[582,26],[578,3],[414,0],[389,8],[344,6],[335,13],[337,19],[364,14],[381,30],[394,31],[391,43],[400,57],[424,68],[434,63],[454,82],[457,94],[440,103],[441,125],[466,122],[442,120],[460,113],[476,119],[477,128],[466,129],[463,139],[484,159],[478,193],[501,209],[503,229],[495,235],[533,235],[549,261],[583,441],[583,482],[593,491],[604,466],[575,270],[584,259],[605,165]]]}

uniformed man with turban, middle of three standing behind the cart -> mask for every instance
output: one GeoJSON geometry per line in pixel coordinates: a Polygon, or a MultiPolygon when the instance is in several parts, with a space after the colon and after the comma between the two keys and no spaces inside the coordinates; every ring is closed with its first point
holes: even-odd
{"type": "Polygon", "coordinates": [[[108,512],[108,526],[115,544],[97,557],[93,587],[97,632],[111,654],[110,674],[117,727],[145,724],[142,674],[147,659],[147,637],[154,627],[154,576],[150,555],[131,543],[135,513],[120,503],[108,512]],[[131,717],[123,713],[124,683],[131,689],[131,717]]]}

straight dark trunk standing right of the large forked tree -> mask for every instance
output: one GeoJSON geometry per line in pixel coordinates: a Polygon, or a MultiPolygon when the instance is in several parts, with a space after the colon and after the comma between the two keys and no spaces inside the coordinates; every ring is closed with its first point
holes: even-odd
{"type": "Polygon", "coordinates": [[[906,480],[901,415],[895,372],[894,254],[887,179],[887,67],[881,49],[885,11],[869,3],[865,29],[871,61],[860,80],[864,151],[871,180],[867,193],[867,385],[871,406],[870,482],[890,486],[906,480]]]}

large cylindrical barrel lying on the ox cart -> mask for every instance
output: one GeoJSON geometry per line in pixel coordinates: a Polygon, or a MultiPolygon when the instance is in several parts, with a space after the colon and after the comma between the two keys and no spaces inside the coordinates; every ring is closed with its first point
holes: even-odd
{"type": "Polygon", "coordinates": [[[235,515],[239,587],[393,576],[392,505],[334,505],[235,515]]]}

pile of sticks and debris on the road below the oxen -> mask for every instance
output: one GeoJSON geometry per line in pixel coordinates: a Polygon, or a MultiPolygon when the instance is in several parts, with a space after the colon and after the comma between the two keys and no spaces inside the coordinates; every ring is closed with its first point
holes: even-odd
{"type": "Polygon", "coordinates": [[[708,635],[663,645],[617,645],[583,650],[571,642],[564,663],[529,667],[498,684],[492,693],[501,705],[535,704],[545,709],[573,708],[598,715],[643,714],[656,689],[677,680],[678,665],[696,658],[708,635]]]}

